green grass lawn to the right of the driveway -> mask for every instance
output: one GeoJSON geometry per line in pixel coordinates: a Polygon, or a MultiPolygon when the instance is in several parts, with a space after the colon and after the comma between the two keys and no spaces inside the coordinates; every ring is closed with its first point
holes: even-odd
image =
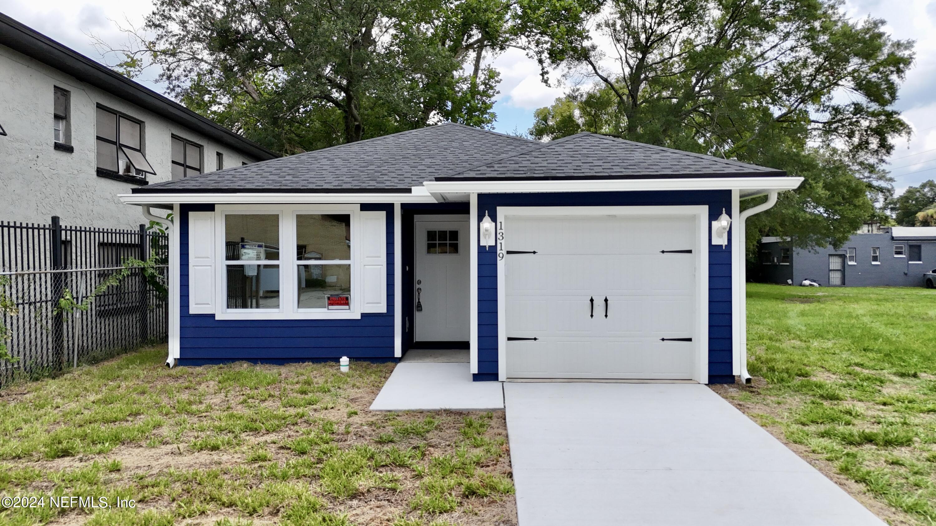
{"type": "Polygon", "coordinates": [[[936,523],[936,291],[748,286],[729,402],[892,524],[936,523]]]}

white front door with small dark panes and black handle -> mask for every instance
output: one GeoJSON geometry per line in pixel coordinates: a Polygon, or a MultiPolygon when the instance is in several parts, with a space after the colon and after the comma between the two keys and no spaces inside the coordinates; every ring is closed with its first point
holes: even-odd
{"type": "Polygon", "coordinates": [[[467,342],[468,218],[416,220],[417,342],[467,342]],[[454,220],[454,219],[458,220],[454,220]]]}

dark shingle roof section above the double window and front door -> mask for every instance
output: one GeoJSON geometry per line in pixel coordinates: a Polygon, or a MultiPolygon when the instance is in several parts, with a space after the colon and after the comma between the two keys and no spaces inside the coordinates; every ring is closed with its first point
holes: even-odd
{"type": "Polygon", "coordinates": [[[408,192],[412,186],[465,168],[539,148],[540,142],[446,123],[298,153],[134,193],[165,192],[408,192]]]}

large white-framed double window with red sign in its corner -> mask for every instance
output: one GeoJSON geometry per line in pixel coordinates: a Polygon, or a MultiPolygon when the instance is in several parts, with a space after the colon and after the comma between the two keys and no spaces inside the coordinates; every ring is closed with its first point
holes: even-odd
{"type": "Polygon", "coordinates": [[[217,319],[358,319],[359,205],[215,207],[217,319]]]}

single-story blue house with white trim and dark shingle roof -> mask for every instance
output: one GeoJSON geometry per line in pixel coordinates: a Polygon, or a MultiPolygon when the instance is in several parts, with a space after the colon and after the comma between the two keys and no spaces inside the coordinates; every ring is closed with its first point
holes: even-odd
{"type": "Polygon", "coordinates": [[[173,212],[169,366],[467,348],[477,381],[725,383],[748,377],[744,221],[801,181],[449,123],[121,198],[173,212]]]}

